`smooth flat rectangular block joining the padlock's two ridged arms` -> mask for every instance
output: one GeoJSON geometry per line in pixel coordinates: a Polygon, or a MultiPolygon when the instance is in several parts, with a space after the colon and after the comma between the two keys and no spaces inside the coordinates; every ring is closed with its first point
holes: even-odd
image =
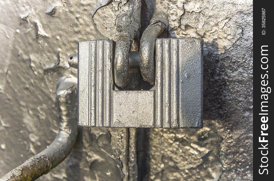
{"type": "Polygon", "coordinates": [[[154,91],[113,92],[113,127],[153,128],[154,91]]]}

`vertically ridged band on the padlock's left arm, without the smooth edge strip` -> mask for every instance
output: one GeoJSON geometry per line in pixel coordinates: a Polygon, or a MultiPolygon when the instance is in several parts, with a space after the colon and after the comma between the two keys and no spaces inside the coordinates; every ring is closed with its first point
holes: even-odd
{"type": "Polygon", "coordinates": [[[90,41],[90,123],[111,126],[112,120],[112,42],[90,41]],[[94,121],[96,120],[96,121],[94,121]],[[106,121],[108,120],[108,121],[106,121]]]}

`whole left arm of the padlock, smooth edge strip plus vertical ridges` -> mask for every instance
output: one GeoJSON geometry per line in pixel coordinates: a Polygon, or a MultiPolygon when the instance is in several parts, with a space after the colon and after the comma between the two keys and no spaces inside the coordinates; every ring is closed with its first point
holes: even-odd
{"type": "Polygon", "coordinates": [[[78,124],[112,126],[112,40],[78,44],[78,124]]]}

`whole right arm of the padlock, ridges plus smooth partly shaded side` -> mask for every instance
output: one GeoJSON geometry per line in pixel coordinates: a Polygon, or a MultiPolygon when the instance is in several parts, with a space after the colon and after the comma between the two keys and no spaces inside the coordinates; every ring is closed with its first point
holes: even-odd
{"type": "Polygon", "coordinates": [[[202,127],[202,46],[201,39],[156,40],[155,127],[202,127]]]}

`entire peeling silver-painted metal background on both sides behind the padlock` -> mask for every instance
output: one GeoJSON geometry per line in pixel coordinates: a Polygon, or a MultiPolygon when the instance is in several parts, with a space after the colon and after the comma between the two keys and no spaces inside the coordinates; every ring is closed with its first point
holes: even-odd
{"type": "MultiPolygon", "coordinates": [[[[115,40],[124,3],[98,7],[100,2],[94,0],[0,1],[0,52],[5,57],[0,70],[0,177],[54,140],[56,82],[68,73],[77,75],[67,64],[69,54],[77,52],[81,40],[115,40]],[[38,29],[35,22],[40,23],[38,29]]],[[[252,1],[142,4],[141,34],[154,12],[163,11],[169,21],[163,37],[204,39],[204,127],[198,132],[144,129],[150,134],[144,139],[139,134],[137,140],[148,146],[139,148],[137,155],[148,157],[146,164],[139,162],[139,178],[252,180],[252,1]],[[170,155],[172,160],[166,159],[170,155]]],[[[92,128],[91,133],[82,128],[71,154],[38,180],[127,180],[126,130],[92,128]],[[103,145],[111,149],[104,152],[103,145]],[[90,167],[92,161],[95,166],[90,167]],[[101,167],[107,167],[109,175],[101,167]]]]}

